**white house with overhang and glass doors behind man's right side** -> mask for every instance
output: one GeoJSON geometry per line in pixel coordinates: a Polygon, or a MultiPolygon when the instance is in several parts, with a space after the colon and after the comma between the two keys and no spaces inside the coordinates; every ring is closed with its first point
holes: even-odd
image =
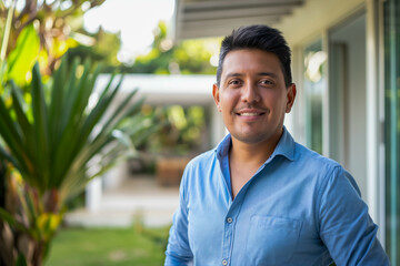
{"type": "Polygon", "coordinates": [[[281,30],[292,49],[294,139],[353,174],[399,265],[400,1],[176,1],[176,40],[254,23],[281,30]]]}

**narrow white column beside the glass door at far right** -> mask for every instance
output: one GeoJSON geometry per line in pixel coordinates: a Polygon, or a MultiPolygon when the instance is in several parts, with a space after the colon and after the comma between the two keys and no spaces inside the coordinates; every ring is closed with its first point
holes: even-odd
{"type": "Polygon", "coordinates": [[[382,105],[378,64],[379,60],[379,14],[374,0],[367,1],[367,203],[372,219],[380,226],[379,238],[384,245],[384,175],[379,165],[382,154],[382,105]],[[383,195],[382,195],[383,193],[383,195]]]}

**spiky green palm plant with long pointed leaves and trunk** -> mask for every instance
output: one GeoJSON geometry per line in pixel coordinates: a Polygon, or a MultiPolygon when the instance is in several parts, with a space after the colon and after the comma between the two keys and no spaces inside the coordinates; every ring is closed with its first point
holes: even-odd
{"type": "Polygon", "coordinates": [[[41,265],[66,202],[133,152],[129,129],[121,125],[140,115],[143,100],[133,101],[133,91],[110,111],[122,78],[116,82],[112,75],[102,91],[94,91],[98,74],[99,68],[88,62],[68,65],[63,60],[43,84],[36,64],[30,103],[12,81],[11,101],[0,96],[0,160],[8,162],[13,178],[6,185],[14,195],[0,206],[0,246],[7,247],[0,257],[6,253],[7,265],[22,258],[41,265]]]}

